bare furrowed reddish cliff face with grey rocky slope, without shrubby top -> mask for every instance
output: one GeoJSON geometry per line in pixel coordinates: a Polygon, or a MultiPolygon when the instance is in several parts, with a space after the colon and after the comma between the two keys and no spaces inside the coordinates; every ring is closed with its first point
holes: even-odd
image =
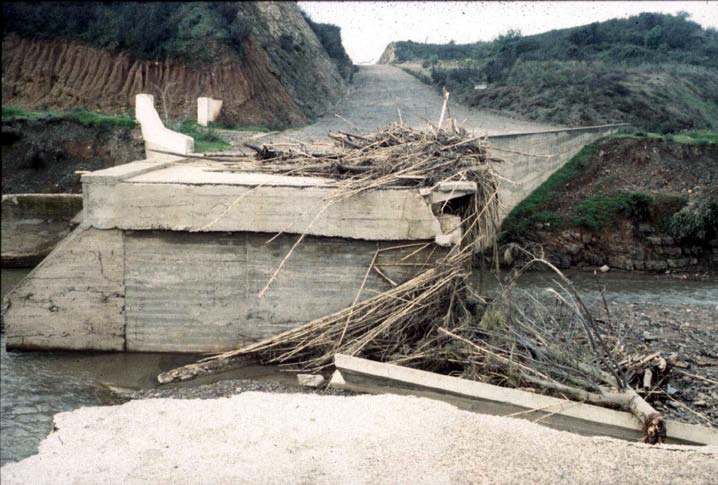
{"type": "Polygon", "coordinates": [[[194,118],[196,99],[223,100],[223,121],[286,127],[306,124],[346,91],[346,82],[293,3],[242,4],[253,33],[241,52],[212,64],[138,60],[66,40],[7,35],[2,42],[2,101],[40,111],[82,108],[127,113],[152,93],[161,114],[194,118]],[[163,96],[162,93],[165,95],[163,96]],[[164,98],[164,100],[163,100],[164,98]]]}

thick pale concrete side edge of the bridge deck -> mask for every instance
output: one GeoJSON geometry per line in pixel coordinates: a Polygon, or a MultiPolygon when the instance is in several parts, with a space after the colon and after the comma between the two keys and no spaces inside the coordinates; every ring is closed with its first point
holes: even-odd
{"type": "Polygon", "coordinates": [[[300,179],[247,174],[227,177],[226,184],[197,185],[147,183],[140,176],[97,185],[83,177],[85,221],[98,229],[289,232],[366,240],[433,239],[442,233],[416,190],[375,190],[330,202],[338,189],[286,183],[292,178],[300,179]],[[265,183],[257,184],[258,179],[265,183]]]}

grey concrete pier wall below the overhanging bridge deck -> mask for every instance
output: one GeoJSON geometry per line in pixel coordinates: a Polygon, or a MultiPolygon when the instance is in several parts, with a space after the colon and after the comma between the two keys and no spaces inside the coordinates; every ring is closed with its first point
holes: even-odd
{"type": "MultiPolygon", "coordinates": [[[[406,246],[377,257],[398,284],[449,250],[308,236],[260,299],[297,236],[270,238],[78,228],[8,295],[7,347],[230,350],[350,306],[380,248],[406,246]]],[[[371,272],[360,300],[390,287],[371,272]]]]}

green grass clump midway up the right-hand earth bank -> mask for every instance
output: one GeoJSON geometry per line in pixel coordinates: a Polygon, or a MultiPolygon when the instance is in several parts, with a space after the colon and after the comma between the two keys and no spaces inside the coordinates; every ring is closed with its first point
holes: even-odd
{"type": "Polygon", "coordinates": [[[576,206],[571,222],[598,232],[617,215],[643,220],[648,217],[653,197],[642,192],[598,193],[576,206]]]}

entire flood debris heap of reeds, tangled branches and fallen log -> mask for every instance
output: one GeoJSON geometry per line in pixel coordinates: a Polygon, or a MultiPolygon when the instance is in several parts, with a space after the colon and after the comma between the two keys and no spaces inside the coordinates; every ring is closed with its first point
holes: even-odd
{"type": "Polygon", "coordinates": [[[624,369],[606,343],[610,328],[598,326],[560,271],[543,261],[564,284],[563,293],[555,296],[568,309],[568,318],[555,318],[537,300],[526,304],[515,298],[513,285],[491,303],[471,294],[474,254],[495,247],[498,222],[498,178],[483,140],[457,129],[422,132],[402,125],[372,135],[331,137],[341,144],[336,153],[262,147],[251,164],[227,161],[224,169],[331,178],[340,189],[335,200],[386,187],[431,189],[447,181],[475,182],[475,194],[440,208],[461,217],[461,243],[430,269],[389,291],[359,301],[362,285],[346,309],[163,373],[160,383],[226,370],[247,357],[318,372],[341,353],[621,407],[653,427],[646,432],[650,442],[660,442],[662,418],[626,385],[624,369]]]}

